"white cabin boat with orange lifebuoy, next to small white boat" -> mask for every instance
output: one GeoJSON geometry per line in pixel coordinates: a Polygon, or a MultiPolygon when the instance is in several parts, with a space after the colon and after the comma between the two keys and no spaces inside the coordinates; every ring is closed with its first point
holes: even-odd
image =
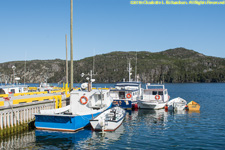
{"type": "Polygon", "coordinates": [[[143,99],[138,100],[139,108],[162,109],[169,101],[167,89],[163,84],[146,84],[143,99]]]}

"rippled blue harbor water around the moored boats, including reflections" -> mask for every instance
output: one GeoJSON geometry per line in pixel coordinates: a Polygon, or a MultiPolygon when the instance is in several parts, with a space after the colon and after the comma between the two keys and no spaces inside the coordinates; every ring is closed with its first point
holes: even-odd
{"type": "Polygon", "coordinates": [[[1,140],[1,149],[224,149],[225,83],[166,84],[166,88],[171,99],[199,103],[200,112],[127,111],[115,132],[32,130],[1,140]]]}

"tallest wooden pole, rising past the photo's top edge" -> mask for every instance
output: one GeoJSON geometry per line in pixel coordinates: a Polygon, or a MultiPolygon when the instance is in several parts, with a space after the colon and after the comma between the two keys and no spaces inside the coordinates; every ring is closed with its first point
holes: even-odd
{"type": "Polygon", "coordinates": [[[73,89],[73,0],[70,0],[70,59],[71,59],[70,90],[72,90],[73,89]]]}

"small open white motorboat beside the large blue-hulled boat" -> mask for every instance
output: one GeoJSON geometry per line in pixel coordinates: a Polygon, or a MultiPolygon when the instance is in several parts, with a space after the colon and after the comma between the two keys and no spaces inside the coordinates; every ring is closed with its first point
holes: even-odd
{"type": "Polygon", "coordinates": [[[93,130],[115,131],[123,122],[126,111],[120,107],[108,109],[90,120],[93,130]]]}

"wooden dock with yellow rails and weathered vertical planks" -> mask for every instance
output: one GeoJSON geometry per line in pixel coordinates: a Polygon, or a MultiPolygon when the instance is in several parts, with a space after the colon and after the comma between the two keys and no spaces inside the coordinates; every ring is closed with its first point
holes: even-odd
{"type": "Polygon", "coordinates": [[[0,96],[0,138],[29,129],[34,113],[68,104],[68,92],[19,93],[0,96]],[[6,97],[7,96],[7,97],[6,97]]]}

